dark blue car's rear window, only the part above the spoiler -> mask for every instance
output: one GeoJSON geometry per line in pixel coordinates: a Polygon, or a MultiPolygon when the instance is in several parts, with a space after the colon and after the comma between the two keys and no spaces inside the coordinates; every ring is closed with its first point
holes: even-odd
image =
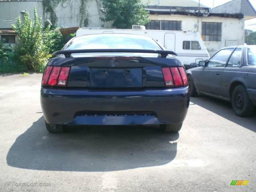
{"type": "Polygon", "coordinates": [[[151,38],[142,35],[97,34],[74,38],[65,50],[74,49],[161,49],[151,38]]]}

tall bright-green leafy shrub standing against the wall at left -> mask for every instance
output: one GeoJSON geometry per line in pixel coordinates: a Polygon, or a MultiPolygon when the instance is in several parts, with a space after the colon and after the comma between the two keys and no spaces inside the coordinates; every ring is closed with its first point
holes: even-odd
{"type": "Polygon", "coordinates": [[[26,11],[23,23],[19,18],[16,25],[13,25],[13,29],[18,36],[14,50],[18,70],[42,72],[47,60],[51,57],[50,48],[47,46],[50,26],[43,31],[42,19],[37,16],[36,8],[34,8],[34,23],[26,11]]]}

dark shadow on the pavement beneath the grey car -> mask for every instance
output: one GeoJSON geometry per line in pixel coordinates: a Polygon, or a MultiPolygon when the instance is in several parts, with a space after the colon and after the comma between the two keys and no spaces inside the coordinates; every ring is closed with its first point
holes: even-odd
{"type": "Polygon", "coordinates": [[[205,95],[191,97],[190,101],[201,106],[202,108],[222,116],[229,121],[256,132],[256,110],[254,110],[254,114],[250,117],[239,117],[233,112],[231,103],[227,101],[222,101],[205,95]]]}

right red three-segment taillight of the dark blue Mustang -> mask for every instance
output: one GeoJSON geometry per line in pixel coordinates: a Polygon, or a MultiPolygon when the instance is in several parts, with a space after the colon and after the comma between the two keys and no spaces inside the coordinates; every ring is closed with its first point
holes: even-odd
{"type": "Polygon", "coordinates": [[[188,86],[187,74],[184,67],[163,67],[162,72],[166,87],[188,86]]]}

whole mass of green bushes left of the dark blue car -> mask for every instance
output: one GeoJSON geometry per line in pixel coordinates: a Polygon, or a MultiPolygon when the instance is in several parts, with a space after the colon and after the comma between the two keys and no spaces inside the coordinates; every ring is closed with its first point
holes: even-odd
{"type": "Polygon", "coordinates": [[[59,28],[42,27],[42,19],[34,8],[34,23],[26,11],[23,23],[13,25],[18,41],[16,47],[0,42],[0,72],[42,72],[51,53],[61,50],[74,34],[62,36],[59,28]]]}

